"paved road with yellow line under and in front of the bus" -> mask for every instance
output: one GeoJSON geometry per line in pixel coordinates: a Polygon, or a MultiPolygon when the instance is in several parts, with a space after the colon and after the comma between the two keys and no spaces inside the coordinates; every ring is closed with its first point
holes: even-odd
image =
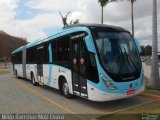
{"type": "Polygon", "coordinates": [[[140,96],[110,102],[66,99],[50,87],[33,86],[29,80],[16,79],[11,74],[0,75],[0,113],[4,114],[68,114],[73,119],[82,119],[85,115],[110,114],[150,102],[153,100],[140,96]]]}

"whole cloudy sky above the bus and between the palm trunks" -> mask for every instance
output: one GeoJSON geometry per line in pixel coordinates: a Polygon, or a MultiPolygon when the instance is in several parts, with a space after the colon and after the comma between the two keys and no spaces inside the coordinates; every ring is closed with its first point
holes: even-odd
{"type": "MultiPolygon", "coordinates": [[[[158,4],[158,47],[160,50],[160,0],[158,4]]],[[[63,27],[59,12],[68,23],[101,23],[98,0],[0,0],[0,30],[27,38],[28,42],[46,38],[63,27]]],[[[152,44],[152,0],[137,0],[134,4],[135,37],[142,45],[152,44]]],[[[131,6],[113,2],[104,8],[104,24],[123,27],[131,32],[131,6]]]]}

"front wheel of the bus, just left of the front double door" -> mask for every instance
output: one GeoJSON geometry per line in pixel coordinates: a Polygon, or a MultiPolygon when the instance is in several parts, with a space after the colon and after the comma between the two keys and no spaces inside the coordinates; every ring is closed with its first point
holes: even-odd
{"type": "Polygon", "coordinates": [[[63,95],[66,98],[70,99],[72,97],[72,95],[69,93],[69,86],[68,86],[68,83],[66,81],[63,82],[62,90],[63,90],[63,95]]]}

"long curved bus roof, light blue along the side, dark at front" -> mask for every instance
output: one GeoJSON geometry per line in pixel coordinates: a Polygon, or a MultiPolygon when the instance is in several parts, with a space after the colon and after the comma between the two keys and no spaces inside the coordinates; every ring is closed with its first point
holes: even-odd
{"type": "MultiPolygon", "coordinates": [[[[49,40],[51,40],[53,38],[56,38],[61,33],[66,33],[67,34],[68,31],[74,31],[75,29],[77,30],[77,29],[80,29],[80,28],[88,28],[88,29],[93,29],[93,28],[99,28],[99,29],[101,28],[102,29],[102,28],[105,28],[105,29],[112,30],[112,31],[127,31],[127,30],[125,30],[125,29],[123,29],[121,27],[112,26],[112,25],[105,25],[105,24],[103,24],[103,25],[102,24],[75,24],[75,25],[69,25],[69,26],[63,27],[62,29],[57,30],[52,36],[49,36],[49,37],[47,37],[45,39],[42,39],[42,40],[36,40],[36,41],[31,42],[31,43],[28,43],[26,45],[26,48],[33,47],[33,46],[41,44],[41,43],[43,43],[45,41],[49,41],[49,40]]],[[[20,48],[17,48],[16,50],[14,50],[12,52],[12,54],[16,53],[16,52],[19,52],[22,49],[23,49],[23,46],[21,46],[20,48]]]]}

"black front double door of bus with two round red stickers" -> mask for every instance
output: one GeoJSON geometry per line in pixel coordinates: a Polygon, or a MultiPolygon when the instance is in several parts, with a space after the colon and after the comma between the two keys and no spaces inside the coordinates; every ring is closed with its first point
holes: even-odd
{"type": "Polygon", "coordinates": [[[82,97],[87,97],[86,59],[87,52],[83,38],[71,42],[71,66],[73,92],[82,97]]]}

